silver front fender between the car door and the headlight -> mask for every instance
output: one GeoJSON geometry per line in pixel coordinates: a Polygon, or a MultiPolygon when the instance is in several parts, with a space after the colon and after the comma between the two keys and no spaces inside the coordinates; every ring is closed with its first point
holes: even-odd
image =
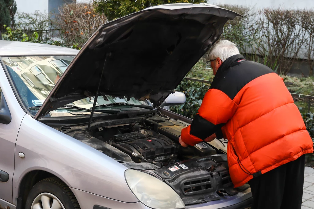
{"type": "Polygon", "coordinates": [[[28,172],[43,170],[69,187],[123,202],[137,202],[125,181],[126,169],[96,149],[26,115],[16,141],[13,196],[18,196],[20,182],[28,172]],[[25,158],[20,158],[19,152],[25,158]]]}

